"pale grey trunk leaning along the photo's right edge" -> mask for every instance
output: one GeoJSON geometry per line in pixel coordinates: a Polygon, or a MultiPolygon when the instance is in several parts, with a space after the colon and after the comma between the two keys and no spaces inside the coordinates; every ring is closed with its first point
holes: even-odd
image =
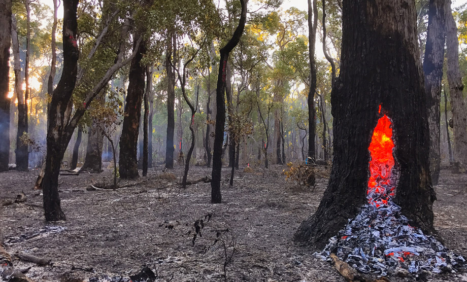
{"type": "Polygon", "coordinates": [[[457,26],[451,12],[451,1],[446,6],[446,54],[449,94],[454,124],[454,161],[467,168],[467,105],[462,97],[462,75],[459,68],[459,41],[457,26]]]}

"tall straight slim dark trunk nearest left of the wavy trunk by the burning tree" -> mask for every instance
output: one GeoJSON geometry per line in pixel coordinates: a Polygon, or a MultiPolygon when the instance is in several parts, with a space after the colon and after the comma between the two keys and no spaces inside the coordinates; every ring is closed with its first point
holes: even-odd
{"type": "Polygon", "coordinates": [[[308,51],[310,53],[310,89],[308,91],[308,157],[315,161],[315,92],[316,92],[316,61],[315,42],[318,26],[318,7],[316,0],[308,0],[308,51]],[[313,17],[311,16],[313,15],[313,17]],[[313,21],[312,21],[313,20],[313,21]]]}

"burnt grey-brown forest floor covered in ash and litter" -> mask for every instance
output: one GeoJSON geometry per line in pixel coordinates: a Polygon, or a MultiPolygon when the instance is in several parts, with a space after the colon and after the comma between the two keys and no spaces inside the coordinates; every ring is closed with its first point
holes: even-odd
{"type": "MultiPolygon", "coordinates": [[[[105,275],[128,277],[143,266],[157,270],[158,281],[223,281],[224,261],[235,244],[227,281],[344,281],[330,263],[292,241],[299,224],[318,207],[327,180],[319,180],[313,191],[293,189],[281,174],[284,167],[274,166],[253,173],[241,169],[229,187],[230,168],[225,167],[223,203],[211,204],[209,183],[182,190],[176,181],[158,177],[161,168],[150,170],[148,177],[123,180],[124,188],[115,191],[87,191],[91,184],[112,182],[108,168],[100,174],[60,176],[61,205],[68,220],[54,224],[44,221],[42,194],[31,189],[37,170],[0,173],[0,202],[21,191],[27,195],[23,203],[0,208],[6,250],[54,263],[37,266],[14,257],[15,266],[31,267],[27,275],[37,282],[60,281],[72,269],[84,281],[105,275]],[[202,237],[197,236],[193,246],[193,224],[200,219],[205,222],[202,237]],[[222,232],[227,228],[229,232],[222,232]],[[215,243],[217,232],[220,240],[215,243]]],[[[182,167],[170,172],[179,179],[182,167]]],[[[193,166],[188,179],[207,175],[211,170],[206,166],[193,166]]],[[[442,170],[437,193],[436,228],[449,249],[467,257],[467,175],[442,170]]],[[[432,275],[428,281],[467,281],[467,274],[432,275]]]]}

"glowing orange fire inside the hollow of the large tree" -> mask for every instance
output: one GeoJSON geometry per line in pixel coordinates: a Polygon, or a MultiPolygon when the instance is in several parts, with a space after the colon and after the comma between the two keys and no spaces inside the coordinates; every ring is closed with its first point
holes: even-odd
{"type": "Polygon", "coordinates": [[[372,142],[368,148],[371,161],[366,194],[368,202],[376,207],[386,204],[394,196],[394,180],[391,178],[391,170],[394,166],[392,155],[394,142],[392,141],[391,125],[389,117],[382,116],[373,131],[372,142]]]}

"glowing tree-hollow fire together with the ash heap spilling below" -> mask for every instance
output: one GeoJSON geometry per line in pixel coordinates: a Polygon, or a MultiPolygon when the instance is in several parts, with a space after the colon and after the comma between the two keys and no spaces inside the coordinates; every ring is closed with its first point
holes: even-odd
{"type": "Polygon", "coordinates": [[[382,276],[455,272],[465,259],[435,237],[410,226],[401,207],[392,202],[397,184],[393,149],[392,122],[383,115],[369,147],[368,204],[315,256],[331,261],[329,255],[335,253],[359,272],[382,276]]]}

